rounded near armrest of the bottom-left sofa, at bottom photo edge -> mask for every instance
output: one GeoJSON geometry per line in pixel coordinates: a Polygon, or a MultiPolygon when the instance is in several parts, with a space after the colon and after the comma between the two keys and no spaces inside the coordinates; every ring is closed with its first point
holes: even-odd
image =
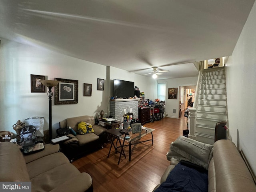
{"type": "Polygon", "coordinates": [[[81,173],[78,176],[62,183],[50,192],[85,192],[92,187],[92,177],[88,173],[81,173]]]}

